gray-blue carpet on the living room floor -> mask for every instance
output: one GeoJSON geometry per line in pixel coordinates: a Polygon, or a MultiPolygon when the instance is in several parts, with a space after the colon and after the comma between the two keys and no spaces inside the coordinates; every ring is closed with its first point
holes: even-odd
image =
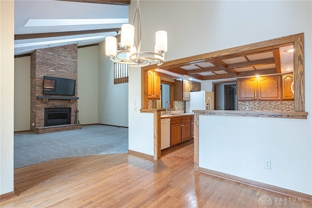
{"type": "Polygon", "coordinates": [[[78,130],[14,133],[14,168],[45,161],[128,151],[128,128],[86,125],[78,130]]]}

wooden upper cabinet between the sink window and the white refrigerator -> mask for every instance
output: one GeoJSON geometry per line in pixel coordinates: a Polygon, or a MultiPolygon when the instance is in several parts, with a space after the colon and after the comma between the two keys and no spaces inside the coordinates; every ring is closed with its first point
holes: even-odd
{"type": "Polygon", "coordinates": [[[188,101],[191,97],[191,82],[189,80],[175,79],[175,100],[176,101],[188,101]]]}

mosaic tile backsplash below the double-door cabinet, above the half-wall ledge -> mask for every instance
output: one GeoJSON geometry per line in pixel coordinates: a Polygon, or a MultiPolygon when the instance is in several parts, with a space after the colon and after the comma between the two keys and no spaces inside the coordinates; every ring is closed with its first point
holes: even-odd
{"type": "Polygon", "coordinates": [[[238,111],[294,111],[294,101],[238,101],[238,111]]]}

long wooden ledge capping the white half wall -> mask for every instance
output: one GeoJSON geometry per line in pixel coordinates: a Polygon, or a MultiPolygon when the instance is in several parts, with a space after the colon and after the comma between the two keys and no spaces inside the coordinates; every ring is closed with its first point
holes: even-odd
{"type": "Polygon", "coordinates": [[[282,112],[282,111],[202,111],[194,110],[199,115],[219,116],[244,116],[244,117],[267,117],[267,118],[297,118],[307,119],[308,112],[282,112]]]}

